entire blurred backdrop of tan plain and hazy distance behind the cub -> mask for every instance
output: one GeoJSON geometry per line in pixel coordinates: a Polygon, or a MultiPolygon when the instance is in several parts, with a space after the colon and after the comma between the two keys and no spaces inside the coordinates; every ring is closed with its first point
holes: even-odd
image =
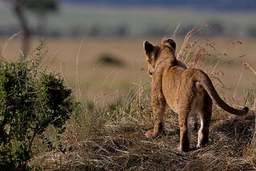
{"type": "Polygon", "coordinates": [[[102,104],[125,96],[140,78],[149,81],[145,39],[159,43],[178,26],[178,51],[186,33],[197,26],[195,38],[210,40],[215,51],[225,53],[216,70],[225,85],[220,92],[232,97],[242,72],[237,93],[242,98],[255,81],[242,65],[256,68],[255,16],[255,0],[1,0],[1,57],[25,58],[43,37],[48,51],[44,63],[70,87],[79,84],[82,96],[102,104]]]}

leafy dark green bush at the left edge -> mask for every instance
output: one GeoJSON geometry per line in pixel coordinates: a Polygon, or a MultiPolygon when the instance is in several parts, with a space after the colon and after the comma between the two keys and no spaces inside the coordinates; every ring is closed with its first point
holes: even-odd
{"type": "Polygon", "coordinates": [[[73,111],[71,90],[63,79],[38,68],[41,47],[34,61],[1,63],[0,170],[28,170],[34,138],[47,139],[43,133],[50,125],[63,133],[73,111]]]}

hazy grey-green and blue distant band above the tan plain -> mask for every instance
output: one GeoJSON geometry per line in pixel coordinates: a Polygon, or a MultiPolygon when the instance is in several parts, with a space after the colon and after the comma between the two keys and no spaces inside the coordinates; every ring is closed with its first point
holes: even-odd
{"type": "Polygon", "coordinates": [[[17,8],[33,36],[159,37],[179,22],[178,36],[205,24],[214,27],[211,36],[256,36],[254,0],[1,0],[0,6],[0,36],[21,31],[17,8]]]}

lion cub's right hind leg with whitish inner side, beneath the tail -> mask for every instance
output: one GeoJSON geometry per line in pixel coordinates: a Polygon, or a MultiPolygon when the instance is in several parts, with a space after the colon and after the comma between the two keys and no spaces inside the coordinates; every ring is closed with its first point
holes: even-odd
{"type": "Polygon", "coordinates": [[[201,118],[201,127],[198,130],[198,145],[196,147],[203,147],[208,143],[210,118],[212,115],[213,102],[206,93],[203,100],[203,108],[199,112],[201,118]]]}

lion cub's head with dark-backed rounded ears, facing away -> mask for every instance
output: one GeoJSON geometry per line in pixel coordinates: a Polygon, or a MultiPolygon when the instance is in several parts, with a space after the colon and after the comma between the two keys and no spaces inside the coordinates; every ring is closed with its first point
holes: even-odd
{"type": "Polygon", "coordinates": [[[159,45],[152,45],[149,41],[144,41],[144,51],[146,54],[146,63],[149,75],[152,76],[154,69],[159,61],[175,58],[176,43],[171,38],[164,38],[159,45]]]}

